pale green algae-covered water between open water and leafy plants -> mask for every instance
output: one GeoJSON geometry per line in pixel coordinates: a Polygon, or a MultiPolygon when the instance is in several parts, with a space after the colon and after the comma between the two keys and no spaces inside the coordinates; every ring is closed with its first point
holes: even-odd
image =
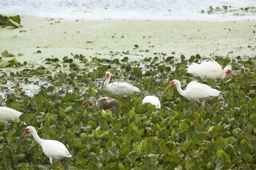
{"type": "Polygon", "coordinates": [[[195,54],[252,56],[256,46],[256,21],[70,21],[21,16],[21,23],[23,28],[0,28],[0,52],[23,54],[16,57],[22,63],[35,60],[42,63],[52,56],[62,59],[66,55],[71,57],[70,53],[82,54],[87,59],[89,56],[109,58],[109,51],[129,51],[127,56],[131,58],[154,53],[174,57],[183,54],[187,58],[195,54]],[[134,48],[135,44],[139,48],[134,48]],[[36,53],[38,50],[42,53],[36,53]],[[149,52],[145,54],[142,50],[149,52]]]}

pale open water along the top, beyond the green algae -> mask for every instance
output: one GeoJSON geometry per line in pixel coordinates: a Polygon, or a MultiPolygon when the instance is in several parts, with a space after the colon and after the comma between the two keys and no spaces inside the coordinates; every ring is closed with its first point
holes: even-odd
{"type": "Polygon", "coordinates": [[[200,11],[232,6],[255,6],[255,0],[0,0],[1,13],[67,19],[255,20],[254,16],[202,14],[200,11]]]}

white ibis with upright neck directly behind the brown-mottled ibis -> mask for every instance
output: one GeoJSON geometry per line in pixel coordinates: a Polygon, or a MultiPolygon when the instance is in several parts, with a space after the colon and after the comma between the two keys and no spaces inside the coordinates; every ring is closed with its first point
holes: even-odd
{"type": "Polygon", "coordinates": [[[140,89],[129,85],[126,82],[114,82],[114,83],[109,83],[110,81],[110,77],[111,77],[111,73],[109,71],[107,71],[105,73],[105,78],[103,80],[103,83],[101,85],[101,90],[103,87],[103,84],[105,82],[105,89],[113,96],[128,96],[129,94],[133,94],[135,92],[140,92],[140,89]]]}

